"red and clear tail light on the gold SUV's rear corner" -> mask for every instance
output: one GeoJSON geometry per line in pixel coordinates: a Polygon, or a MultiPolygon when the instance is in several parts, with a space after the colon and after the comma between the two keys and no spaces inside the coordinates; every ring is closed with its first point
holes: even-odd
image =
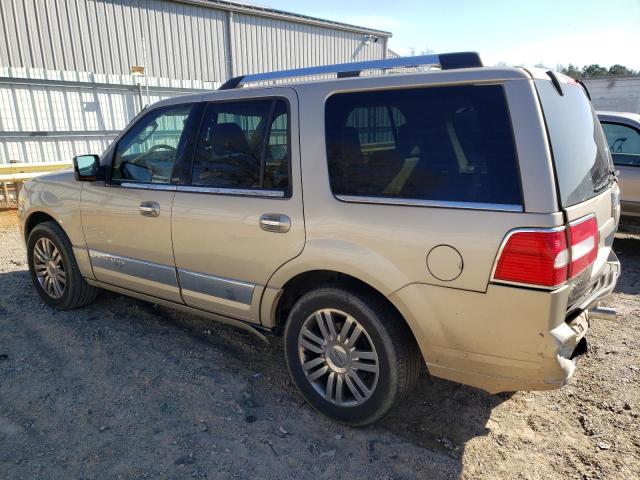
{"type": "Polygon", "coordinates": [[[598,224],[590,215],[569,228],[518,229],[498,254],[493,280],[556,288],[586,270],[598,253],[598,224]]]}

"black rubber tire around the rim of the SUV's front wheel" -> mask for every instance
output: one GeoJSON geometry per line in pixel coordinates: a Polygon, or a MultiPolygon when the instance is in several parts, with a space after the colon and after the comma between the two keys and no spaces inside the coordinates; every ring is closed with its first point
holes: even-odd
{"type": "Polygon", "coordinates": [[[56,310],[70,310],[83,307],[95,300],[99,290],[89,285],[82,277],[73,254],[71,242],[57,223],[43,222],[33,228],[27,240],[27,261],[33,285],[40,298],[50,307],[56,310]],[[59,298],[54,298],[47,293],[36,275],[34,248],[36,242],[42,238],[50,240],[62,257],[66,281],[62,295],[59,298]]]}

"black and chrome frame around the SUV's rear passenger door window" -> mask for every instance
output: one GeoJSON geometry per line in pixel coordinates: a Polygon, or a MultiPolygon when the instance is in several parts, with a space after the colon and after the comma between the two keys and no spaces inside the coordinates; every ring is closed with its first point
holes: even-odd
{"type": "Polygon", "coordinates": [[[210,105],[218,105],[225,103],[240,103],[240,102],[249,102],[249,101],[260,101],[260,100],[271,100],[272,105],[269,112],[269,116],[267,117],[268,124],[267,128],[264,132],[264,145],[262,148],[262,158],[260,161],[260,183],[264,183],[263,178],[263,169],[266,167],[266,149],[268,148],[268,141],[271,135],[272,123],[274,120],[274,112],[277,105],[278,100],[284,102],[286,106],[286,114],[287,114],[287,175],[288,175],[288,186],[285,190],[272,190],[265,188],[233,188],[233,187],[208,187],[208,186],[196,186],[193,185],[193,165],[195,162],[195,157],[197,153],[197,148],[192,148],[190,152],[190,159],[187,162],[189,165],[188,168],[188,176],[186,177],[186,184],[179,185],[177,191],[179,192],[189,192],[189,193],[203,193],[203,194],[213,194],[213,195],[232,195],[232,196],[247,196],[247,197],[265,197],[265,198],[280,198],[280,199],[290,199],[293,196],[293,170],[292,170],[292,149],[291,149],[291,102],[287,97],[282,95],[266,95],[259,97],[243,97],[243,98],[234,98],[228,100],[205,100],[199,102],[202,104],[202,111],[200,114],[200,121],[198,125],[198,129],[196,135],[192,138],[193,143],[196,144],[198,139],[200,138],[200,133],[202,131],[203,122],[207,115],[207,109],[210,105]]]}

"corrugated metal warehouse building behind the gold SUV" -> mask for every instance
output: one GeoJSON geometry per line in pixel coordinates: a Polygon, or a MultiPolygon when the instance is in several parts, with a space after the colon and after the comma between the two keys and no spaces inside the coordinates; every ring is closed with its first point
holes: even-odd
{"type": "Polygon", "coordinates": [[[0,163],[98,153],[147,101],[384,58],[390,36],[222,0],[0,0],[0,163]]]}

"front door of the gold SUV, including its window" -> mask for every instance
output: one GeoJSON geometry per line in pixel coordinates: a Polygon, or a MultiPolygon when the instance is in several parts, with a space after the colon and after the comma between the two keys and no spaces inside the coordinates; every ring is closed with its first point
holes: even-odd
{"type": "Polygon", "coordinates": [[[171,243],[174,166],[188,155],[192,104],[156,108],[113,149],[106,182],[82,192],[82,226],[97,280],[182,302],[171,243]]]}

